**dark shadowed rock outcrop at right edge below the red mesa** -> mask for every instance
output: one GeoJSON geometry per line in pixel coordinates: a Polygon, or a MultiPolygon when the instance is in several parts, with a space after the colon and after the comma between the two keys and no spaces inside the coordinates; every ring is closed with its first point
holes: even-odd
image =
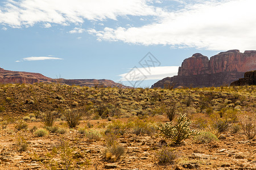
{"type": "Polygon", "coordinates": [[[256,85],[256,70],[247,71],[245,73],[245,78],[241,78],[230,84],[230,86],[245,86],[245,85],[256,85]]]}

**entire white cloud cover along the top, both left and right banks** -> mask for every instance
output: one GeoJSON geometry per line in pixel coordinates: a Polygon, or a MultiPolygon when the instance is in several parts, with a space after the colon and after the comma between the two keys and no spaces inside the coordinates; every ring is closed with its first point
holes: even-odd
{"type": "MultiPolygon", "coordinates": [[[[6,0],[1,4],[3,30],[35,24],[82,25],[90,20],[101,25],[86,30],[98,41],[218,51],[256,48],[255,0],[6,0]],[[139,26],[133,22],[114,26],[121,25],[119,17],[129,22],[129,16],[139,16],[139,26]],[[109,19],[117,24],[102,24],[109,19]],[[108,27],[101,29],[104,25],[108,27]]],[[[69,33],[84,31],[76,27],[69,33]]]]}

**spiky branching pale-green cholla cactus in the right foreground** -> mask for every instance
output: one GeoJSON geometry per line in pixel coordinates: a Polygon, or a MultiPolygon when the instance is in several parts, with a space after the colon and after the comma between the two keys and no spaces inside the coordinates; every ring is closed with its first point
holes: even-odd
{"type": "Polygon", "coordinates": [[[167,122],[164,125],[158,125],[156,129],[160,134],[163,134],[164,137],[172,139],[174,144],[180,144],[184,139],[198,134],[195,130],[189,129],[191,122],[192,121],[186,117],[186,114],[180,113],[175,125],[172,125],[172,122],[167,122]]]}

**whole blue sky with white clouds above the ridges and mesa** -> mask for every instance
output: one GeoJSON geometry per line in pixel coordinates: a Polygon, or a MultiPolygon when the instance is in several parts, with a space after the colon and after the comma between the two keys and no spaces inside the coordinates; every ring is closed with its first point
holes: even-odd
{"type": "Polygon", "coordinates": [[[0,0],[0,67],[151,87],[194,53],[256,49],[255,0],[0,0]]]}

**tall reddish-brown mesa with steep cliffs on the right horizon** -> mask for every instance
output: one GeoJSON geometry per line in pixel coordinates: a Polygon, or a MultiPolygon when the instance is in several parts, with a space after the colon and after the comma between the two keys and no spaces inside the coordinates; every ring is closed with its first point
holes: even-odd
{"type": "Polygon", "coordinates": [[[211,87],[230,84],[243,77],[246,71],[256,69],[256,50],[221,52],[208,59],[200,53],[184,59],[177,76],[167,77],[152,87],[211,87]]]}

